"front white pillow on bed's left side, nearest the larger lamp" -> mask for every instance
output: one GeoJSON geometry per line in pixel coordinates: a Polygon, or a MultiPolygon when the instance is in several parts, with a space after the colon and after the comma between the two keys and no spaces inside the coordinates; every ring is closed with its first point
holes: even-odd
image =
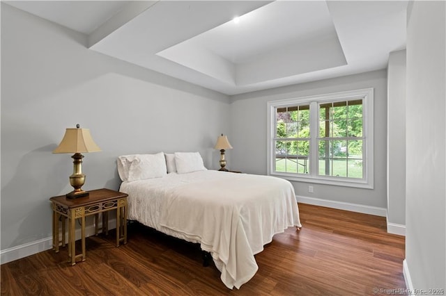
{"type": "Polygon", "coordinates": [[[167,175],[164,152],[139,154],[130,164],[128,181],[161,178],[167,175]]]}

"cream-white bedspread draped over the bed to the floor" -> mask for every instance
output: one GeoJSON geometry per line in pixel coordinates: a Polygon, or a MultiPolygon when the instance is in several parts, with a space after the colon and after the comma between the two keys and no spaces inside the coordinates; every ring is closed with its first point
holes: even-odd
{"type": "Polygon", "coordinates": [[[228,288],[254,276],[254,254],[275,233],[301,226],[293,186],[272,176],[208,170],[123,182],[120,190],[129,219],[200,243],[228,288]]]}

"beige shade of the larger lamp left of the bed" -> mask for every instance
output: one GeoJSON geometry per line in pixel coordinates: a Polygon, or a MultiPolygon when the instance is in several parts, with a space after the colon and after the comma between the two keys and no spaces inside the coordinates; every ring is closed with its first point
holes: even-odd
{"type": "Polygon", "coordinates": [[[65,135],[53,153],[82,153],[100,151],[89,129],[66,129],[65,135]]]}

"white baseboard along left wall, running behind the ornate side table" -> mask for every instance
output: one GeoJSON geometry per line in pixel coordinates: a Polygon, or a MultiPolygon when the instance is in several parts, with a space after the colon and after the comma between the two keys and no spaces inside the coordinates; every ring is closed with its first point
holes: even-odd
{"type": "MultiPolygon", "coordinates": [[[[115,228],[116,228],[116,219],[109,220],[109,229],[115,229],[115,228]]],[[[102,224],[99,224],[99,229],[100,230],[102,229],[102,224]]],[[[86,237],[94,235],[95,235],[94,224],[85,227],[86,237]]],[[[76,229],[76,240],[79,240],[80,238],[81,238],[81,229],[76,229]]],[[[3,263],[8,263],[10,261],[15,261],[17,259],[24,258],[26,256],[31,256],[33,254],[46,251],[47,249],[52,249],[52,247],[53,247],[53,238],[49,237],[49,238],[43,238],[41,240],[36,240],[33,242],[28,242],[24,245],[19,245],[9,249],[2,249],[0,251],[0,263],[3,264],[3,263]]]]}

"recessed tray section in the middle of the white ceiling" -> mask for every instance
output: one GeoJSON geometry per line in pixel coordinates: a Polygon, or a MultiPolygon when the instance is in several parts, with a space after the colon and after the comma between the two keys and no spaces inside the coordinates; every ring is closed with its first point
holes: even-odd
{"type": "Polygon", "coordinates": [[[323,1],[275,1],[238,20],[157,56],[239,88],[347,64],[323,1]]]}

